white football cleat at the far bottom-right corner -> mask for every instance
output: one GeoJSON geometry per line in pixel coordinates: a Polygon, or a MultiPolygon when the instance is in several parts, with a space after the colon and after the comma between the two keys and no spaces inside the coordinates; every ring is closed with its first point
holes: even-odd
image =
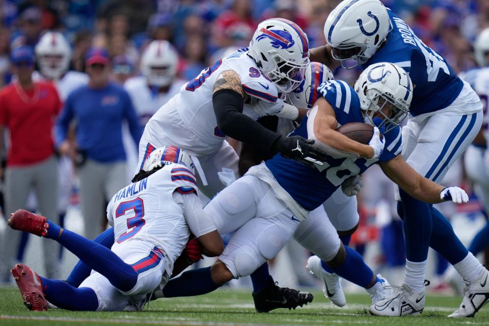
{"type": "Polygon", "coordinates": [[[473,317],[489,301],[489,272],[484,268],[482,276],[474,281],[464,280],[464,298],[458,309],[449,315],[452,318],[473,317]]]}

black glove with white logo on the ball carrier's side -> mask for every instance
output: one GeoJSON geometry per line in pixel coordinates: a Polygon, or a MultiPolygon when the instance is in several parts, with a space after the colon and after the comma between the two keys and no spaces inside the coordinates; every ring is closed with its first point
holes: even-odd
{"type": "Polygon", "coordinates": [[[322,166],[327,159],[327,154],[312,147],[314,140],[301,136],[280,137],[274,144],[274,149],[287,158],[300,161],[302,164],[314,168],[322,166]]]}

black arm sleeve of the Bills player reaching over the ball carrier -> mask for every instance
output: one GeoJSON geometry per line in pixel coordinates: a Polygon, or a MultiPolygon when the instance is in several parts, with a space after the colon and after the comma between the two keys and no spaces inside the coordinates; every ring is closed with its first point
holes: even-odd
{"type": "Polygon", "coordinates": [[[280,134],[270,131],[242,114],[243,98],[237,92],[223,89],[212,96],[218,127],[231,138],[263,149],[271,149],[280,134]]]}

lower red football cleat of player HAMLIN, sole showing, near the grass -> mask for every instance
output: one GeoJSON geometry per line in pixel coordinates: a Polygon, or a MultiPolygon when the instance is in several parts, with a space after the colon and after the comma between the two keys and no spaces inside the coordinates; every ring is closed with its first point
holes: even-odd
{"type": "Polygon", "coordinates": [[[24,264],[16,264],[10,271],[22,294],[25,307],[35,311],[47,310],[47,301],[42,292],[42,282],[34,270],[24,264]]]}

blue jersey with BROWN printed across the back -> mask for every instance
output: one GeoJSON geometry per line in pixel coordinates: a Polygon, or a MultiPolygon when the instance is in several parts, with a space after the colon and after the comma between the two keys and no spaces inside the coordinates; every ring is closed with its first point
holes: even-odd
{"type": "Polygon", "coordinates": [[[410,113],[417,116],[450,105],[464,86],[453,69],[437,52],[426,46],[411,28],[388,10],[392,31],[387,42],[362,65],[391,62],[402,67],[414,85],[410,113]]]}

